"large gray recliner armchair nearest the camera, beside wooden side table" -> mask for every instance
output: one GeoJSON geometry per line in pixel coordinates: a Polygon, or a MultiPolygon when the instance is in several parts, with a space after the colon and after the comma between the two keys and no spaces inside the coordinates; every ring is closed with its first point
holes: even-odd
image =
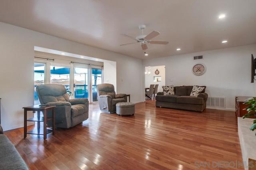
{"type": "MultiPolygon", "coordinates": [[[[89,102],[87,98],[69,99],[66,88],[59,84],[42,84],[36,87],[41,104],[55,108],[55,126],[70,128],[88,119],[89,102]]],[[[50,117],[52,113],[47,113],[50,117]]],[[[47,122],[52,126],[52,121],[47,122]]]]}

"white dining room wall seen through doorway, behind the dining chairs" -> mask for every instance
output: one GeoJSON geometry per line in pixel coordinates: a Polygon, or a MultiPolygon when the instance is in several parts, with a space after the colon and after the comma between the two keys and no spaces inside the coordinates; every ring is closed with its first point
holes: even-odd
{"type": "Polygon", "coordinates": [[[150,84],[159,84],[158,92],[162,92],[162,86],[165,86],[165,66],[150,66],[147,68],[150,74],[145,75],[145,87],[150,87],[150,84]],[[159,71],[158,75],[155,74],[156,69],[159,71]],[[154,82],[154,76],[161,76],[162,81],[154,82]]]}

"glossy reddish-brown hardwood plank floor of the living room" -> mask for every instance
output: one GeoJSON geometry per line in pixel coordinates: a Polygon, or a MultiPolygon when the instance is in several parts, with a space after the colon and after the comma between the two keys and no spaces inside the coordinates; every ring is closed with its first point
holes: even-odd
{"type": "Polygon", "coordinates": [[[228,111],[156,108],[150,100],[136,104],[134,116],[121,117],[90,104],[88,120],[57,128],[45,141],[37,135],[23,139],[23,128],[5,134],[31,170],[243,169],[214,168],[216,163],[198,167],[200,162],[242,162],[236,116],[228,111]]]}

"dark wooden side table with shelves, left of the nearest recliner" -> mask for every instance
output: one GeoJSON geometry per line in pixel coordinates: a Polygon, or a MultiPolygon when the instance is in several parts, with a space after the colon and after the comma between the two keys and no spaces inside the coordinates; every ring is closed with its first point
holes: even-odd
{"type": "Polygon", "coordinates": [[[27,137],[27,134],[37,134],[37,135],[44,135],[44,140],[47,138],[47,134],[52,132],[52,135],[54,135],[55,131],[55,111],[54,108],[56,106],[28,106],[24,107],[24,138],[27,137]],[[52,111],[52,117],[47,117],[47,111],[52,111]],[[29,118],[27,119],[27,112],[28,111],[37,111],[37,117],[29,118]],[[43,116],[40,116],[40,112],[43,113],[43,116]],[[47,121],[52,120],[52,129],[47,128],[47,121]],[[27,132],[27,121],[30,122],[37,122],[37,129],[30,130],[27,132]],[[44,128],[43,130],[40,128],[40,122],[44,122],[44,128]]]}

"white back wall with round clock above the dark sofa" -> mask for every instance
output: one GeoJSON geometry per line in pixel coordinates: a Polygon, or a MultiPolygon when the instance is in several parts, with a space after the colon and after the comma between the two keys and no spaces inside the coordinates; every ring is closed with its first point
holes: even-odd
{"type": "Polygon", "coordinates": [[[212,97],[226,97],[226,109],[234,110],[235,96],[256,96],[256,83],[250,83],[251,54],[256,44],[143,60],[143,66],[166,66],[166,85],[205,85],[212,97]],[[203,55],[202,60],[193,56],[203,55]],[[202,76],[192,73],[194,64],[202,63],[202,76]]]}

